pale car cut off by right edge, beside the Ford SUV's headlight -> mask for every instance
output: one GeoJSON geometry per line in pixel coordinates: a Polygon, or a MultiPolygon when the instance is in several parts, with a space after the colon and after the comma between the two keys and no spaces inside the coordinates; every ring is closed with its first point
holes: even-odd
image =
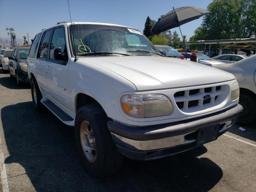
{"type": "Polygon", "coordinates": [[[256,55],[242,59],[232,64],[214,66],[236,76],[240,87],[239,103],[244,110],[238,120],[242,125],[256,123],[256,55]]]}

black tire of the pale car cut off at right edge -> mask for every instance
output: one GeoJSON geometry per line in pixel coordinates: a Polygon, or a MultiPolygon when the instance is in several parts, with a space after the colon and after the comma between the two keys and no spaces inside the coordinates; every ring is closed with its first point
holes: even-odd
{"type": "Polygon", "coordinates": [[[243,106],[244,110],[240,115],[237,124],[253,125],[256,123],[256,100],[255,96],[246,92],[240,94],[239,104],[243,106]]]}

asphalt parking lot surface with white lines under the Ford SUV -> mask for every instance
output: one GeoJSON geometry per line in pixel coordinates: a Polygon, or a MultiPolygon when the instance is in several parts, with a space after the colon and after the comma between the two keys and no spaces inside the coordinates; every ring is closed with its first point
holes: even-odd
{"type": "Polygon", "coordinates": [[[240,191],[256,189],[256,126],[153,161],[126,159],[116,176],[86,174],[73,128],[36,112],[30,86],[0,68],[0,191],[240,191]]]}

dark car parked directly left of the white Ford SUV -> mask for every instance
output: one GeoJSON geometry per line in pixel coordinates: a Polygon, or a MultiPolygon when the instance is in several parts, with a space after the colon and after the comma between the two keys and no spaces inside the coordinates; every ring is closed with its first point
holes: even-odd
{"type": "Polygon", "coordinates": [[[27,58],[30,47],[16,47],[9,56],[9,72],[10,77],[15,77],[16,82],[20,85],[21,82],[28,83],[28,66],[27,58]]]}

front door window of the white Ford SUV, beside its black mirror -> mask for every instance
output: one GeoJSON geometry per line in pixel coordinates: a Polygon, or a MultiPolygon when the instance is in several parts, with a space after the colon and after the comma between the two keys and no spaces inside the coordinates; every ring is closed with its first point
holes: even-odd
{"type": "Polygon", "coordinates": [[[50,60],[68,60],[64,28],[56,28],[53,32],[50,46],[50,60]]]}

